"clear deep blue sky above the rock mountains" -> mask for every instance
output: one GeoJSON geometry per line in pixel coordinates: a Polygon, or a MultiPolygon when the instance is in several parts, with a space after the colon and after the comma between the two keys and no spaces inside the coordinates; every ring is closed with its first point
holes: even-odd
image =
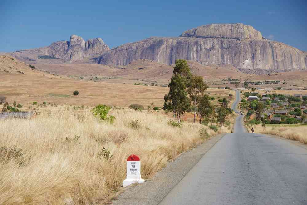
{"type": "Polygon", "coordinates": [[[177,37],[203,24],[243,23],[307,51],[306,1],[14,1],[0,5],[0,52],[48,46],[76,34],[111,48],[177,37]]]}

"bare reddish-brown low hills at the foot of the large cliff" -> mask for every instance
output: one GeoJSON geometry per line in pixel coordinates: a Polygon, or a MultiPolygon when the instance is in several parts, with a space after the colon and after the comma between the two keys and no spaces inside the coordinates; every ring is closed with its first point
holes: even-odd
{"type": "MultiPolygon", "coordinates": [[[[193,74],[203,76],[206,81],[222,78],[245,77],[233,66],[203,66],[198,62],[188,61],[193,74]]],[[[166,65],[147,59],[132,61],[126,66],[106,66],[102,64],[35,64],[35,66],[57,74],[69,77],[82,77],[85,80],[134,83],[139,79],[143,83],[167,84],[171,79],[173,65],[166,65]],[[99,78],[98,80],[95,78],[99,78]],[[101,78],[101,80],[100,80],[101,78]],[[142,81],[143,80],[143,81],[142,81]],[[144,82],[145,81],[145,82],[144,82]]]]}

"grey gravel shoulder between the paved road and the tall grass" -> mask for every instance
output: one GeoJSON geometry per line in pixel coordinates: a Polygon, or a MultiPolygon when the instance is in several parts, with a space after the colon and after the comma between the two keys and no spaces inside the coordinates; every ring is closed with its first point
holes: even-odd
{"type": "Polygon", "coordinates": [[[211,137],[203,144],[179,155],[174,161],[142,184],[122,188],[113,204],[159,204],[177,183],[225,134],[211,137]]]}

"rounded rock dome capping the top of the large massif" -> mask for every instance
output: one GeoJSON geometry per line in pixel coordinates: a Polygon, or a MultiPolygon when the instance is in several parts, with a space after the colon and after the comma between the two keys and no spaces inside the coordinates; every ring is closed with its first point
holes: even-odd
{"type": "Polygon", "coordinates": [[[179,37],[262,39],[260,31],[242,23],[208,24],[184,31],[179,37]]]}

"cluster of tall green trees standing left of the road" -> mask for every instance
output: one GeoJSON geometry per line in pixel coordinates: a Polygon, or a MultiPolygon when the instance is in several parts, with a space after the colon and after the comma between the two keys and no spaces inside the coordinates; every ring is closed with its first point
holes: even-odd
{"type": "Polygon", "coordinates": [[[194,107],[194,123],[197,114],[199,123],[202,123],[202,120],[207,122],[210,120],[212,125],[217,119],[217,122],[222,125],[226,116],[231,113],[226,98],[221,100],[221,107],[215,109],[211,98],[205,94],[208,85],[204,82],[202,76],[191,74],[186,60],[178,59],[175,61],[173,75],[168,87],[169,92],[164,96],[163,109],[172,111],[178,122],[180,122],[181,115],[188,111],[191,105],[194,107]]]}

